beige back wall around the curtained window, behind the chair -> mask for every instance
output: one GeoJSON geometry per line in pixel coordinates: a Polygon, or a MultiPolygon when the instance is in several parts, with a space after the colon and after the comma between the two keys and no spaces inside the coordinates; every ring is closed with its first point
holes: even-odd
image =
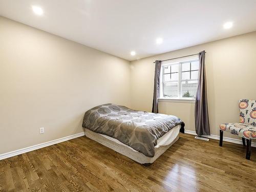
{"type": "MultiPolygon", "coordinates": [[[[256,99],[256,32],[168,52],[131,62],[132,108],[151,111],[155,60],[206,50],[206,78],[210,131],[219,135],[219,124],[238,122],[240,98],[256,99]]],[[[160,102],[159,113],[177,115],[185,129],[195,131],[194,103],[160,102]]],[[[225,133],[224,136],[230,136],[225,133]]]]}

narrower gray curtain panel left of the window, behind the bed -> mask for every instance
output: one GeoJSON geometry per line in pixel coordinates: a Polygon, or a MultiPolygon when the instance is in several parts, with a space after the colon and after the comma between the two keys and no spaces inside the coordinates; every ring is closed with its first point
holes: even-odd
{"type": "Polygon", "coordinates": [[[160,71],[161,71],[161,61],[156,60],[152,113],[158,113],[158,100],[157,99],[160,96],[160,71]]]}

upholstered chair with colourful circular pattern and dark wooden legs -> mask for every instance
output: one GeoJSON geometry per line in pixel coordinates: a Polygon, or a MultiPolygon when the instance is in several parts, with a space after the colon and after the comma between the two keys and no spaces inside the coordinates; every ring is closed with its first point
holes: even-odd
{"type": "Polygon", "coordinates": [[[239,123],[224,123],[220,125],[220,146],[222,146],[223,142],[223,131],[242,137],[243,145],[246,146],[246,159],[250,159],[251,139],[256,139],[256,100],[241,99],[239,108],[239,123]]]}

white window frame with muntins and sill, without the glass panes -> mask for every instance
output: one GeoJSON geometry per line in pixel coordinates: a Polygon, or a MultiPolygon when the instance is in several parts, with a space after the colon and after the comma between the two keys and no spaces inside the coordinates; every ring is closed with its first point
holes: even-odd
{"type": "Polygon", "coordinates": [[[194,61],[199,61],[198,56],[194,58],[183,58],[182,60],[179,59],[178,61],[169,61],[166,63],[162,63],[161,66],[161,72],[160,72],[160,98],[158,101],[162,102],[195,102],[195,97],[182,97],[182,91],[181,91],[181,86],[182,82],[185,81],[197,81],[197,86],[198,86],[198,78],[197,79],[185,79],[182,80],[182,63],[187,63],[189,62],[189,71],[183,71],[183,72],[190,72],[189,77],[191,78],[191,72],[193,71],[198,71],[198,70],[191,70],[191,62],[194,61]],[[164,81],[164,74],[172,74],[172,66],[173,65],[179,65],[178,67],[178,80],[170,80],[170,81],[164,81]],[[170,66],[170,73],[164,73],[164,67],[170,66]],[[164,97],[164,83],[165,82],[178,82],[178,97],[164,97]]]}

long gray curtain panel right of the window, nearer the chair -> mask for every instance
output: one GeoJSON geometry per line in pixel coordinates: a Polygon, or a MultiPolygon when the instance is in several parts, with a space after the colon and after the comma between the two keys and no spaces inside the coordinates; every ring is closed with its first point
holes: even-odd
{"type": "Polygon", "coordinates": [[[197,135],[210,135],[205,76],[205,51],[199,53],[199,74],[195,103],[195,121],[197,135]]]}

